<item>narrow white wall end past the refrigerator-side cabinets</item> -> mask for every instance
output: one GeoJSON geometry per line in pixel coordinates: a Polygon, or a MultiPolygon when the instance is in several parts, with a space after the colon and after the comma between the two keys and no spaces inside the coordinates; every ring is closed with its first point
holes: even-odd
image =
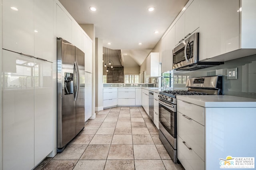
{"type": "Polygon", "coordinates": [[[95,39],[95,110],[103,110],[103,67],[102,67],[102,57],[103,57],[103,40],[95,39]]]}

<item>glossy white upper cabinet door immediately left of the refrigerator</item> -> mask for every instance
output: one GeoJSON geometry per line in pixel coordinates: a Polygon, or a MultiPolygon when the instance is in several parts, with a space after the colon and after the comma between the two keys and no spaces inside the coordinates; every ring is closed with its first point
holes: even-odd
{"type": "Polygon", "coordinates": [[[34,0],[34,16],[35,57],[53,62],[56,57],[56,37],[53,29],[52,0],[34,0]]]}

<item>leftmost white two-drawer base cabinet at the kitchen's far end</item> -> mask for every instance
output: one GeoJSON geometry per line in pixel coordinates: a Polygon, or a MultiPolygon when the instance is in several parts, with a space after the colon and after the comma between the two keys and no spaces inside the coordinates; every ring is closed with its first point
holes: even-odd
{"type": "Polygon", "coordinates": [[[103,107],[114,107],[117,105],[117,88],[103,89],[103,107]]]}

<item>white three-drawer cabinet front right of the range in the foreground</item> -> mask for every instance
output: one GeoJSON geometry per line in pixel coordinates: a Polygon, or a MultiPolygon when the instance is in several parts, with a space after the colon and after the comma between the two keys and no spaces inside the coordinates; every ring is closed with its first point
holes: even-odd
{"type": "Polygon", "coordinates": [[[177,100],[177,140],[184,168],[204,170],[204,107],[177,100]]]}

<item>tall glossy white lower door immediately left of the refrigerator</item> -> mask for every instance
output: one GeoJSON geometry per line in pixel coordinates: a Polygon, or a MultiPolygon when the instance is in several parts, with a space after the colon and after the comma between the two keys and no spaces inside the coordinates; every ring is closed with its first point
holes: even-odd
{"type": "Polygon", "coordinates": [[[52,63],[35,59],[34,68],[34,166],[53,149],[52,63]]]}

